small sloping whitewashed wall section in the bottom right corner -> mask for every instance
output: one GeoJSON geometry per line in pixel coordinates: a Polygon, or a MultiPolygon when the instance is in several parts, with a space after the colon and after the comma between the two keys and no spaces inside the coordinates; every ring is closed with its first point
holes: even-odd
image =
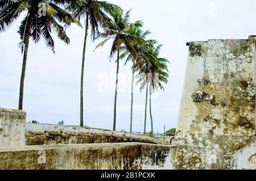
{"type": "Polygon", "coordinates": [[[231,169],[256,169],[256,137],[245,148],[234,154],[231,169]]]}

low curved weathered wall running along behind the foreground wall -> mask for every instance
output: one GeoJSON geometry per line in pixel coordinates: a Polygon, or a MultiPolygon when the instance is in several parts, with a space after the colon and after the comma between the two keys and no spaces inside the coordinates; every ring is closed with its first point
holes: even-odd
{"type": "Polygon", "coordinates": [[[92,144],[114,142],[143,142],[167,144],[148,136],[114,132],[104,129],[68,127],[50,124],[26,124],[27,145],[92,144]]]}

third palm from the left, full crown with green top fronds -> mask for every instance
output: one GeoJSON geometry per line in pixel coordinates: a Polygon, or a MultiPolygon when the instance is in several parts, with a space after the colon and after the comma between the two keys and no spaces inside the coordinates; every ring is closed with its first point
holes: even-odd
{"type": "Polygon", "coordinates": [[[110,16],[112,18],[112,22],[104,24],[104,32],[100,33],[100,37],[103,37],[105,40],[98,44],[96,49],[104,46],[108,40],[113,39],[109,58],[113,58],[114,54],[117,53],[117,72],[115,79],[113,119],[113,131],[115,131],[117,119],[117,89],[120,53],[126,49],[133,55],[133,57],[137,57],[137,53],[133,47],[133,42],[141,41],[141,39],[138,39],[137,37],[131,35],[131,30],[133,30],[134,27],[141,27],[142,22],[137,21],[135,23],[130,23],[130,10],[125,13],[123,12],[123,10],[114,9],[112,12],[110,12],[110,16]]]}

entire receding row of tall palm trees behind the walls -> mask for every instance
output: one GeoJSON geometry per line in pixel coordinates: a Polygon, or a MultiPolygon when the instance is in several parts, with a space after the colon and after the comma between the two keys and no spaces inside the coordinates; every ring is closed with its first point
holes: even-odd
{"type": "Polygon", "coordinates": [[[130,11],[125,12],[121,7],[113,3],[96,0],[0,0],[0,33],[5,32],[20,15],[24,14],[24,18],[18,28],[20,36],[19,47],[23,53],[18,109],[23,109],[24,78],[30,41],[38,43],[40,39],[44,39],[46,46],[55,53],[52,32],[56,32],[60,40],[69,44],[71,40],[67,36],[64,27],[69,27],[71,24],[82,27],[83,24],[80,22],[81,19],[84,19],[85,32],[80,79],[80,126],[84,126],[84,68],[86,42],[90,29],[92,41],[100,38],[104,39],[96,46],[96,49],[103,47],[108,41],[112,41],[109,58],[113,59],[116,56],[113,131],[115,131],[117,121],[119,62],[125,60],[125,65],[129,61],[133,65],[131,67],[133,77],[131,84],[130,133],[133,132],[135,78],[137,78],[137,83],[141,85],[141,90],[146,89],[144,134],[146,134],[148,92],[151,132],[154,133],[151,95],[158,89],[164,90],[162,84],[168,82],[167,64],[169,61],[166,58],[159,57],[162,45],[157,45],[158,42],[156,40],[146,39],[150,31],[142,30],[142,20],[137,20],[134,23],[130,22],[130,11]],[[135,73],[138,73],[138,75],[135,76],[135,73]]]}

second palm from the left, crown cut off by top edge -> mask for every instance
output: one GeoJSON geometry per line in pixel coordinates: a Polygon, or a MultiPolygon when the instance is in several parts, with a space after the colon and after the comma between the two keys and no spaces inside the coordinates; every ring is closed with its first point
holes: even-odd
{"type": "Polygon", "coordinates": [[[91,37],[94,41],[99,35],[98,27],[109,21],[105,12],[112,12],[113,9],[121,9],[112,3],[97,0],[76,0],[69,3],[67,9],[72,11],[77,19],[85,18],[84,47],[82,49],[82,66],[80,80],[80,126],[84,126],[84,66],[85,50],[89,26],[92,29],[91,37]]]}

